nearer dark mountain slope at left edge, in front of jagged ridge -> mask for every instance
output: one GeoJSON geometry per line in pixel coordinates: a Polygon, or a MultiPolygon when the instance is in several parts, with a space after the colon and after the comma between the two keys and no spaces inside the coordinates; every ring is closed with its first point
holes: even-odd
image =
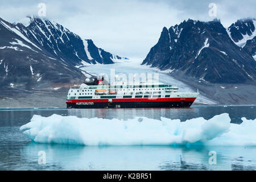
{"type": "Polygon", "coordinates": [[[13,24],[0,19],[1,87],[23,87],[80,80],[84,75],[26,38],[13,24]]]}

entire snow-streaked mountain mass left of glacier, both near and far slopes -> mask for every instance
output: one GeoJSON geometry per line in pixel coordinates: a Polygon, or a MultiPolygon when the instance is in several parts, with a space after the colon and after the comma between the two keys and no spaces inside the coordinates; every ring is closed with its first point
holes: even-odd
{"type": "Polygon", "coordinates": [[[88,75],[79,67],[112,64],[122,57],[97,48],[60,24],[28,16],[15,24],[0,18],[1,87],[68,84],[88,75]]]}

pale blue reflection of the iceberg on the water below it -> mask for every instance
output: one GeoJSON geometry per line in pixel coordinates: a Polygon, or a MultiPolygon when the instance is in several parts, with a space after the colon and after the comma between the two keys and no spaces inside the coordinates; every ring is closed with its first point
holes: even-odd
{"type": "MultiPolygon", "coordinates": [[[[256,147],[74,146],[28,143],[6,169],[36,170],[254,170],[256,147]],[[210,165],[209,151],[217,152],[210,165]],[[46,165],[38,152],[46,152],[46,165]],[[242,155],[242,158],[240,156],[242,155]],[[242,160],[241,160],[242,159],[242,160]],[[18,165],[19,164],[19,165],[18,165]]],[[[3,160],[3,159],[1,159],[3,160]]],[[[1,167],[0,167],[1,169],[1,167]]],[[[3,168],[2,168],[3,169],[3,168]]]]}

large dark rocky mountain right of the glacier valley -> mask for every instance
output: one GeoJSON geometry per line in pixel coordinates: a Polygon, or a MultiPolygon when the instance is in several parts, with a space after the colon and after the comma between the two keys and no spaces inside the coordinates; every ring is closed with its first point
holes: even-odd
{"type": "Polygon", "coordinates": [[[158,43],[142,64],[172,75],[213,83],[256,80],[256,61],[246,49],[230,39],[226,28],[217,19],[210,22],[189,19],[169,29],[164,27],[158,43]]]}

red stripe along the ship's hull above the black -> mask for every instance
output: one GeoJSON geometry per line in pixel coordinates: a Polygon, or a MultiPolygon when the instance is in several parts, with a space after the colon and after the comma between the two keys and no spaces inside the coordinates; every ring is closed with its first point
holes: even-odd
{"type": "MultiPolygon", "coordinates": [[[[195,101],[196,98],[113,98],[112,102],[171,102],[171,101],[195,101]]],[[[109,102],[108,99],[75,99],[66,103],[76,102],[109,102]]]]}

